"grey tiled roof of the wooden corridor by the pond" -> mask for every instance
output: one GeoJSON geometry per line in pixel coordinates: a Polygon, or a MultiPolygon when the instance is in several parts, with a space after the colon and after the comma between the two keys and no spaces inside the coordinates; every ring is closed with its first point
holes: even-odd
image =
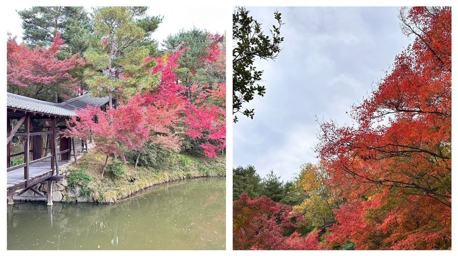
{"type": "Polygon", "coordinates": [[[59,116],[74,116],[75,109],[85,108],[89,105],[102,107],[107,103],[108,97],[91,97],[90,93],[81,95],[65,102],[52,103],[7,92],[7,106],[10,108],[59,116]]]}

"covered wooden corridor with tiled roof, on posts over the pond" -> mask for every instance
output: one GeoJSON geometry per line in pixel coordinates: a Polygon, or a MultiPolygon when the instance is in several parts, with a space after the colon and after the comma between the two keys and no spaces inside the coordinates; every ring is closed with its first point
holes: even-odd
{"type": "Polygon", "coordinates": [[[52,182],[62,180],[60,167],[69,161],[76,162],[74,138],[66,138],[61,131],[66,121],[75,115],[75,109],[87,106],[105,108],[108,98],[94,98],[90,94],[63,103],[39,101],[7,93],[7,197],[8,203],[17,200],[47,200],[52,205],[52,182]],[[13,138],[15,140],[13,140],[13,138]],[[19,139],[20,138],[20,139],[19,139]],[[12,153],[12,146],[21,152],[12,153]],[[18,147],[19,146],[19,147],[18,147]],[[13,163],[13,157],[23,163],[13,163]],[[45,197],[33,188],[38,183],[48,183],[45,197]],[[22,196],[32,190],[34,196],[22,196]]]}

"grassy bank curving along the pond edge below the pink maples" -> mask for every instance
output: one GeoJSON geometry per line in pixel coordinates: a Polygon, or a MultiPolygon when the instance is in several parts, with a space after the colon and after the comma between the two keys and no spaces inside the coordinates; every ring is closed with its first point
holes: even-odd
{"type": "Polygon", "coordinates": [[[91,152],[81,157],[78,164],[70,166],[64,200],[113,203],[152,185],[187,178],[224,176],[226,170],[225,156],[215,159],[177,153],[157,167],[134,168],[128,163],[124,165],[122,177],[108,172],[102,179],[104,162],[104,155],[91,152]]]}

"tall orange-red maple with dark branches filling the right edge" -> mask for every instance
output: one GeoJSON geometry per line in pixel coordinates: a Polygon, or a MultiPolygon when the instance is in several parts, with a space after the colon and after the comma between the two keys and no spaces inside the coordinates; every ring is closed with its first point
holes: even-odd
{"type": "Polygon", "coordinates": [[[403,9],[400,19],[415,41],[354,107],[357,125],[321,124],[320,156],[348,202],[329,247],[451,246],[451,8],[403,9]]]}

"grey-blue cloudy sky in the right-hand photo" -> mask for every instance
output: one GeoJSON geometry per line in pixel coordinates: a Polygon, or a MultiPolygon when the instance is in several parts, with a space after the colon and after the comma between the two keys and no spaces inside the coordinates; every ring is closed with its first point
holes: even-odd
{"type": "MultiPolygon", "coordinates": [[[[265,25],[275,8],[247,8],[265,25]]],[[[283,180],[304,163],[317,163],[319,120],[350,123],[346,111],[361,102],[394,57],[412,40],[399,29],[397,8],[278,8],[283,50],[257,61],[267,92],[247,105],[254,119],[234,125],[234,167],[253,165],[283,180]]]]}

